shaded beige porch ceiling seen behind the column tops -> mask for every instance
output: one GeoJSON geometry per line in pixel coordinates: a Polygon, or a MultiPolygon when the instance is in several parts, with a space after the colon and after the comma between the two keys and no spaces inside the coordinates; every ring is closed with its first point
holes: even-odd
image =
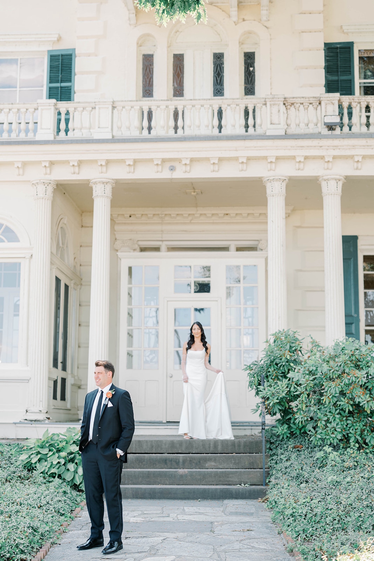
{"type": "MultiPolygon", "coordinates": [[[[83,212],[93,210],[92,190],[88,183],[59,183],[83,212]]],[[[343,185],[343,213],[374,212],[374,178],[348,177],[343,185]]],[[[265,187],[260,178],[186,181],[159,180],[116,182],[112,208],[230,208],[266,206],[265,187]],[[188,193],[187,191],[190,191],[188,193]],[[197,195],[191,194],[197,191],[197,195]]],[[[321,187],[317,178],[290,178],[286,205],[294,210],[322,210],[321,187]]]]}

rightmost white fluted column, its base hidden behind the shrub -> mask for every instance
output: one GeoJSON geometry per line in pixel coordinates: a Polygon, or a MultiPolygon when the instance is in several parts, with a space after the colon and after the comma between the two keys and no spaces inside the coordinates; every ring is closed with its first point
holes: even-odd
{"type": "Polygon", "coordinates": [[[326,345],[345,337],[343,242],[341,240],[342,176],[318,180],[324,197],[325,323],[326,345]]]}

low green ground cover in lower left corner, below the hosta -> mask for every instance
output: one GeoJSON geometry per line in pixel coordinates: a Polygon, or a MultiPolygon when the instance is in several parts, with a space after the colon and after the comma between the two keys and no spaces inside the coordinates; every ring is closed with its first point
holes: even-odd
{"type": "Polygon", "coordinates": [[[21,454],[19,444],[0,443],[0,558],[6,561],[29,561],[46,542],[56,542],[56,530],[84,499],[62,480],[26,471],[21,454]]]}

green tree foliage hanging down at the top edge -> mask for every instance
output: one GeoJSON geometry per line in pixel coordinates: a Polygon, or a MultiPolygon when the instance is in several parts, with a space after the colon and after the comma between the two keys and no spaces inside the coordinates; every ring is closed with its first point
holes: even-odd
{"type": "Polygon", "coordinates": [[[156,22],[167,25],[169,21],[184,21],[192,16],[195,22],[206,21],[206,8],[202,0],[136,0],[135,6],[146,12],[154,9],[156,22]]]}

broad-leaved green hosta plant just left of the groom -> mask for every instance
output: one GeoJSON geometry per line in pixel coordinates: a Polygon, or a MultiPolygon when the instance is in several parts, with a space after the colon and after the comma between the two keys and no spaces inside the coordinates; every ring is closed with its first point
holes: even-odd
{"type": "Polygon", "coordinates": [[[84,490],[79,440],[80,431],[72,427],[63,434],[49,434],[47,429],[41,438],[26,442],[20,465],[38,470],[49,480],[58,477],[77,490],[84,490]]]}

